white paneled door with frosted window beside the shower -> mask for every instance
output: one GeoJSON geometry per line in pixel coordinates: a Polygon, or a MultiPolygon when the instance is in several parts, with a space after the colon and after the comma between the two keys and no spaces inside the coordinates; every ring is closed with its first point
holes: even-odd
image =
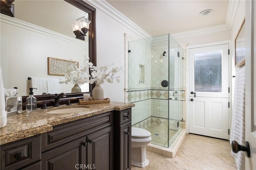
{"type": "Polygon", "coordinates": [[[228,139],[228,44],[189,49],[189,68],[189,132],[228,139]]]}

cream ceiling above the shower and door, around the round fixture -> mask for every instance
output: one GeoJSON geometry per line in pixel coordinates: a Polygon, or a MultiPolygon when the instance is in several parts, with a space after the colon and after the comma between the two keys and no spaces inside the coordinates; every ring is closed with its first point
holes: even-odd
{"type": "Polygon", "coordinates": [[[106,0],[151,36],[226,24],[229,0],[106,0]],[[213,10],[201,16],[203,10],[213,10]]]}

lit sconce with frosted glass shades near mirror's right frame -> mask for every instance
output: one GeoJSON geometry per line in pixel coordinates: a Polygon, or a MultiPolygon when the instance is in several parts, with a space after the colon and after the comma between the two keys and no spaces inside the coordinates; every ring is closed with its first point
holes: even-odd
{"type": "Polygon", "coordinates": [[[85,17],[79,18],[73,26],[73,32],[76,35],[76,38],[79,40],[84,40],[84,36],[89,31],[89,25],[91,21],[85,17]]]}

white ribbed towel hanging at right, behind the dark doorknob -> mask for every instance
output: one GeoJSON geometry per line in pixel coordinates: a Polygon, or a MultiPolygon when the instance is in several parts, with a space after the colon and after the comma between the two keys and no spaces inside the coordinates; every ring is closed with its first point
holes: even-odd
{"type": "MultiPolygon", "coordinates": [[[[230,133],[230,143],[236,140],[238,144],[244,145],[245,138],[245,67],[240,67],[236,73],[234,88],[234,103],[230,133]]],[[[244,152],[234,153],[236,166],[239,170],[243,166],[244,152]]]]}

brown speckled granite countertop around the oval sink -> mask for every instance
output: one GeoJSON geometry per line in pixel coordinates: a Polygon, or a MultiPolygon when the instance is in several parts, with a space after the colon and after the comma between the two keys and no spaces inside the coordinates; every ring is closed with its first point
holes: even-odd
{"type": "Polygon", "coordinates": [[[48,109],[38,109],[34,113],[12,115],[7,117],[7,125],[0,128],[0,145],[14,142],[23,138],[42,134],[52,130],[53,126],[76,121],[86,117],[99,115],[108,111],[122,111],[134,107],[132,103],[111,102],[101,104],[80,105],[73,103],[71,106],[60,105],[60,107],[48,107],[48,109]],[[48,111],[71,107],[86,107],[88,110],[75,113],[50,114],[48,111]]]}

